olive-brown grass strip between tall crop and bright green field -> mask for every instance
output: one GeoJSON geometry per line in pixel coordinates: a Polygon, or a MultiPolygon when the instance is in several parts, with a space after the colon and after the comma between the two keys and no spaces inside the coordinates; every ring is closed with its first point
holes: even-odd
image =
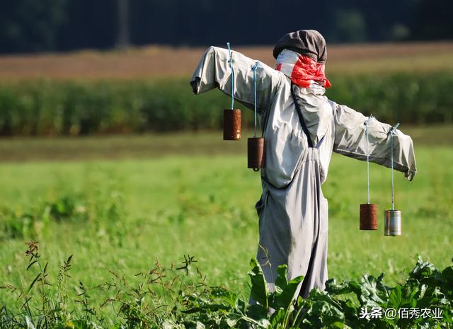
{"type": "MultiPolygon", "coordinates": [[[[247,110],[248,111],[248,110],[247,110]]],[[[248,111],[249,112],[249,111],[248,111]]],[[[451,125],[400,127],[416,146],[453,145],[451,125]]],[[[222,132],[171,132],[164,134],[108,135],[89,137],[11,137],[0,139],[0,161],[74,161],[79,159],[155,158],[174,154],[246,154],[247,137],[240,142],[224,142],[222,132]]]]}

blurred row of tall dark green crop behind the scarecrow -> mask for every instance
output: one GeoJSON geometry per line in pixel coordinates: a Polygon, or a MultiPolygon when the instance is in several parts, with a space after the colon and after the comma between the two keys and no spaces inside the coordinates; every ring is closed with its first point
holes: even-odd
{"type": "MultiPolygon", "coordinates": [[[[331,76],[327,96],[384,122],[452,122],[453,75],[331,76]]],[[[194,97],[186,79],[3,83],[0,134],[78,135],[217,129],[229,100],[219,91],[194,97]]],[[[251,126],[252,112],[243,111],[251,126]]]]}

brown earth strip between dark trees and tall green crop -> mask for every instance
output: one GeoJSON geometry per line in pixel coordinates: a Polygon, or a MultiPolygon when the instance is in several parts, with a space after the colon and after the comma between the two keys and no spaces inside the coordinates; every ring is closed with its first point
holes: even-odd
{"type": "MultiPolygon", "coordinates": [[[[273,67],[272,47],[234,50],[273,67]]],[[[142,47],[127,52],[0,57],[0,80],[11,79],[149,79],[190,76],[205,52],[203,48],[142,47]]],[[[453,69],[453,42],[379,45],[331,45],[327,73],[453,69]]]]}

